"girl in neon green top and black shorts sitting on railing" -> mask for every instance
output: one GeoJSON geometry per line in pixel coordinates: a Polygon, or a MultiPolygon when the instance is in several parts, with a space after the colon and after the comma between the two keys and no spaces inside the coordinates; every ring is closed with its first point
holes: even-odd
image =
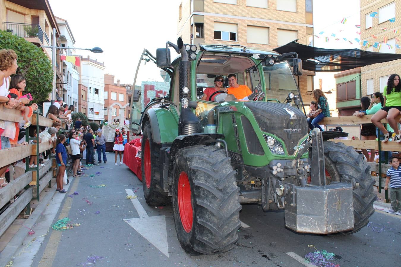
{"type": "Polygon", "coordinates": [[[393,141],[401,142],[401,136],[397,127],[395,118],[401,111],[401,84],[398,74],[391,74],[387,80],[387,86],[384,87],[384,107],[378,110],[371,118],[371,122],[376,125],[381,132],[384,133],[383,142],[389,141],[389,132],[380,122],[383,118],[387,118],[391,128],[394,129],[395,137],[393,141]]]}

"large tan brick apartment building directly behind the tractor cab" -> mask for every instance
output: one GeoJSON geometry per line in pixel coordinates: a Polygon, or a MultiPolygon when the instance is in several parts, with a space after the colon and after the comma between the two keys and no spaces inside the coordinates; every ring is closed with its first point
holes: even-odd
{"type": "MultiPolygon", "coordinates": [[[[313,46],[312,0],[182,0],[178,36],[184,43],[241,44],[274,49],[297,40],[313,46]]],[[[314,72],[298,78],[304,102],[312,100],[314,72]]]]}

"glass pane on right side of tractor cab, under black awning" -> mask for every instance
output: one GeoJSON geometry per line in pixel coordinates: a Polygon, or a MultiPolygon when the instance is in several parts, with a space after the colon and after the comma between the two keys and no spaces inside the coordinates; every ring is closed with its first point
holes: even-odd
{"type": "Polygon", "coordinates": [[[275,63],[273,66],[264,66],[263,75],[267,98],[275,98],[283,102],[290,92],[299,95],[298,86],[287,61],[275,63]]]}

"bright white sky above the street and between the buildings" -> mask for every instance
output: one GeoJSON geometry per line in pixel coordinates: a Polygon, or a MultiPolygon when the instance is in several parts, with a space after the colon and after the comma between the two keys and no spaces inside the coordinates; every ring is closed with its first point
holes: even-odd
{"type": "MultiPolygon", "coordinates": [[[[156,48],[166,46],[167,41],[176,43],[178,7],[181,0],[49,0],[53,14],[68,21],[75,47],[99,46],[103,53],[76,50],[84,57],[89,55],[104,62],[105,74],[113,74],[115,82],[134,82],[138,60],[144,48],[156,54],[156,48]],[[113,5],[111,5],[113,3],[113,5]]],[[[315,46],[333,49],[359,48],[353,41],[360,38],[356,32],[359,25],[359,0],[314,0],[315,46]],[[347,18],[345,24],[340,21],[347,18]],[[318,33],[324,31],[324,35],[318,33]],[[336,34],[332,37],[331,34],[336,34]],[[329,42],[324,36],[329,36],[329,42]],[[340,38],[341,40],[334,40],[340,38]]],[[[300,36],[298,36],[300,37],[300,36]]],[[[172,51],[173,52],[173,51],[172,51]]],[[[175,56],[172,54],[172,58],[175,56]]],[[[332,74],[328,75],[332,77],[332,74]]],[[[316,85],[316,79],[315,79],[316,85]]],[[[316,86],[315,86],[316,88],[316,86]]]]}

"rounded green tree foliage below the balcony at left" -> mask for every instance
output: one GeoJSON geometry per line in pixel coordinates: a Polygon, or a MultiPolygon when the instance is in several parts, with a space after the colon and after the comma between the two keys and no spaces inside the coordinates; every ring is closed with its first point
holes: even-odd
{"type": "Polygon", "coordinates": [[[47,100],[53,86],[53,71],[42,48],[12,32],[0,30],[0,49],[3,48],[14,50],[18,56],[17,74],[26,78],[25,93],[31,93],[36,103],[47,100]]]}

